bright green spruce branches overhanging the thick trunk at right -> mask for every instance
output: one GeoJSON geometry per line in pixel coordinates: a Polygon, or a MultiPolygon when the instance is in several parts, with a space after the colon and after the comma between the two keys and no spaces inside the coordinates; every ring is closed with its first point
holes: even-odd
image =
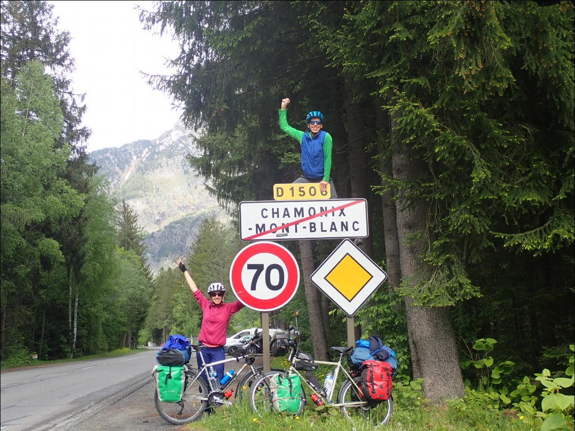
{"type": "Polygon", "coordinates": [[[404,240],[427,244],[432,276],[404,279],[402,295],[454,305],[480,296],[470,268],[488,251],[573,244],[572,3],[351,2],[339,27],[324,21],[313,22],[332,64],[396,119],[389,156],[407,145],[428,167],[382,176],[382,191],[428,208],[404,240]]]}

